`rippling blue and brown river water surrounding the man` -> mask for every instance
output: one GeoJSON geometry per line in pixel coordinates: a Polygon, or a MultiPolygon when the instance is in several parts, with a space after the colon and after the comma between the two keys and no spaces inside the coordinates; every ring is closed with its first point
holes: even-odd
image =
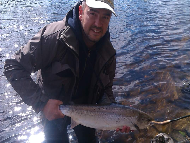
{"type": "MultiPolygon", "coordinates": [[[[44,141],[39,116],[22,102],[3,75],[4,61],[43,26],[62,20],[75,3],[0,0],[1,143],[44,141]]],[[[190,114],[190,1],[115,0],[115,11],[118,16],[112,17],[110,32],[117,51],[116,100],[157,121],[190,114]]],[[[105,132],[102,142],[149,143],[161,132],[176,143],[190,142],[190,118],[156,128],[130,134],[105,132]]]]}

